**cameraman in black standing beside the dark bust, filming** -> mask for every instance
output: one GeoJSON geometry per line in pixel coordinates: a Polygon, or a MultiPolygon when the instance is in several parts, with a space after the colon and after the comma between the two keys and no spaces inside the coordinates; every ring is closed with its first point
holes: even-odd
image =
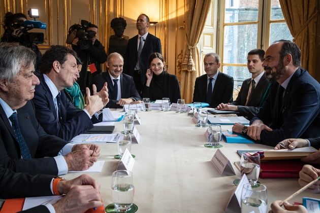
{"type": "Polygon", "coordinates": [[[81,25],[75,24],[69,29],[67,44],[75,37],[72,49],[83,62],[77,81],[83,95],[86,87],[92,91],[92,79],[101,73],[100,65],[107,60],[105,47],[98,41],[97,34],[98,26],[85,20],[81,20],[81,25]]]}

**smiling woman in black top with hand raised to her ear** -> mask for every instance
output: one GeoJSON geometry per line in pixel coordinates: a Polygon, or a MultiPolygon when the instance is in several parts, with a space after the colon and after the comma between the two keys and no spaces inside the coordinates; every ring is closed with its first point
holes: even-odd
{"type": "Polygon", "coordinates": [[[167,73],[166,63],[160,53],[152,53],[149,57],[150,68],[147,69],[147,82],[144,97],[150,100],[170,98],[171,103],[176,103],[181,98],[180,85],[175,75],[167,73]]]}

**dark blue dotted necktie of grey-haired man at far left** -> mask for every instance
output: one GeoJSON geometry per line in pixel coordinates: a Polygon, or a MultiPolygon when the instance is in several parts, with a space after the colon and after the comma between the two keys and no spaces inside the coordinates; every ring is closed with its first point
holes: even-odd
{"type": "Polygon", "coordinates": [[[18,117],[17,117],[17,113],[13,113],[10,117],[9,117],[11,123],[12,123],[12,129],[14,131],[14,134],[16,135],[16,138],[18,140],[18,144],[20,146],[20,152],[21,152],[21,156],[23,159],[31,159],[30,156],[30,152],[29,152],[29,148],[25,143],[25,140],[22,136],[22,133],[20,131],[20,126],[19,126],[19,122],[18,122],[18,117]]]}

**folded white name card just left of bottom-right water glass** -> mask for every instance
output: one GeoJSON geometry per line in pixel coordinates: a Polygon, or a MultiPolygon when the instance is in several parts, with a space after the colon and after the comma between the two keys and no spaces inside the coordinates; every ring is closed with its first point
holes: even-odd
{"type": "Polygon", "coordinates": [[[243,185],[248,184],[249,181],[247,176],[243,174],[241,177],[237,188],[232,192],[231,197],[229,199],[228,205],[226,207],[226,213],[240,213],[241,212],[241,193],[243,185]]]}

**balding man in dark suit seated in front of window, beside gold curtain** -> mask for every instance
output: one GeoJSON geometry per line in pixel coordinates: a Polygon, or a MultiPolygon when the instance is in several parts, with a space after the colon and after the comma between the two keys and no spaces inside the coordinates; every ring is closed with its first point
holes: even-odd
{"type": "Polygon", "coordinates": [[[216,108],[221,102],[231,102],[233,78],[219,72],[219,55],[208,53],[203,62],[206,74],[196,79],[193,102],[206,102],[211,108],[216,108]]]}

